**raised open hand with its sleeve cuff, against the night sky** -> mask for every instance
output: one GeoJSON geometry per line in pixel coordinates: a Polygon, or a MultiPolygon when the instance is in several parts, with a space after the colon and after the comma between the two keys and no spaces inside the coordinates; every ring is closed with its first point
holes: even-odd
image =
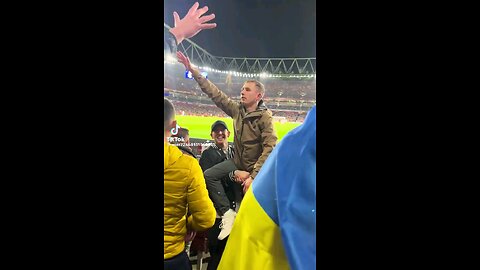
{"type": "Polygon", "coordinates": [[[184,39],[191,38],[202,30],[217,27],[216,23],[207,23],[215,18],[215,14],[203,16],[207,13],[208,7],[198,8],[198,6],[198,2],[193,4],[183,19],[180,19],[176,11],[173,12],[174,27],[168,31],[165,28],[163,30],[164,51],[175,55],[177,53],[177,45],[184,39]]]}

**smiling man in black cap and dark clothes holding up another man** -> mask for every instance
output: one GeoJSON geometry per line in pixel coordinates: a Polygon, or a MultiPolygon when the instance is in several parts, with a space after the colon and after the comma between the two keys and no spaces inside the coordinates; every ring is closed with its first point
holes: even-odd
{"type": "MultiPolygon", "coordinates": [[[[205,149],[200,157],[200,167],[204,172],[220,162],[232,159],[234,154],[233,146],[228,144],[230,131],[225,122],[216,121],[213,123],[210,136],[212,137],[214,144],[205,149]]],[[[242,177],[242,175],[246,176],[246,174],[248,174],[248,172],[240,170],[232,171],[229,176],[222,179],[222,185],[224,186],[225,193],[230,201],[231,209],[238,208],[237,203],[239,203],[243,197],[241,184],[234,180],[237,177],[242,177]]],[[[217,269],[228,240],[228,237],[223,240],[218,240],[217,238],[220,233],[219,225],[221,224],[221,221],[222,219],[217,211],[215,225],[213,225],[213,227],[207,232],[208,249],[211,256],[207,270],[217,269]]]]}

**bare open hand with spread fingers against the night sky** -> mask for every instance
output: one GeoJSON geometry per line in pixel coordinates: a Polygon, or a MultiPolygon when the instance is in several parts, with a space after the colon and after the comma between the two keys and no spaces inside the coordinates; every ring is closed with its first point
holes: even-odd
{"type": "Polygon", "coordinates": [[[170,29],[170,32],[177,39],[177,43],[180,44],[185,38],[191,38],[198,34],[198,32],[204,29],[212,29],[217,27],[216,23],[206,23],[215,18],[215,14],[203,16],[208,11],[208,7],[198,8],[198,2],[195,2],[193,6],[188,10],[187,15],[180,19],[178,13],[173,12],[173,18],[175,20],[175,26],[170,29]]]}

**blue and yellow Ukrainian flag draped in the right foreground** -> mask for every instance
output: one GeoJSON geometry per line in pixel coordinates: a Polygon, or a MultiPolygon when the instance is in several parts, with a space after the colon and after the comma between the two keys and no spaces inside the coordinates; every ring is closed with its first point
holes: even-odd
{"type": "Polygon", "coordinates": [[[218,269],[316,268],[316,106],[245,194],[218,269]]]}

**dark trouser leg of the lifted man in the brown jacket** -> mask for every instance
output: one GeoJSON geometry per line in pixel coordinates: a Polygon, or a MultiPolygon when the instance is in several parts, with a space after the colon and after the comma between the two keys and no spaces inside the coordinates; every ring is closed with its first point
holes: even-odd
{"type": "Polygon", "coordinates": [[[204,172],[208,194],[212,199],[215,209],[221,216],[230,209],[230,201],[228,200],[227,194],[225,194],[225,189],[221,181],[222,178],[228,177],[228,174],[236,169],[237,167],[235,163],[233,163],[233,160],[227,159],[204,172]]]}

